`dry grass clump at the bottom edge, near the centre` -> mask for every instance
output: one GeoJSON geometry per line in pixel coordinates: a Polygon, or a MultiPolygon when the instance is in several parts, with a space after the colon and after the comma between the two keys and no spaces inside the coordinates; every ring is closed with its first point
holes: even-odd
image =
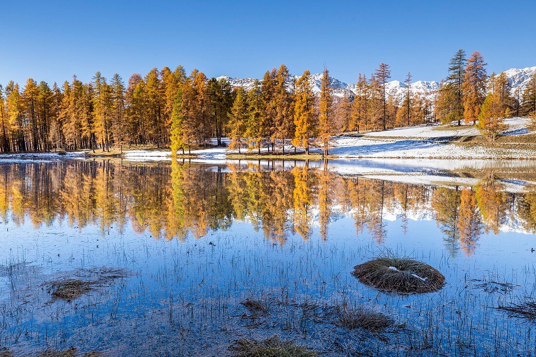
{"type": "Polygon", "coordinates": [[[274,335],[264,340],[243,338],[229,347],[236,357],[317,357],[318,352],[274,335]]]}

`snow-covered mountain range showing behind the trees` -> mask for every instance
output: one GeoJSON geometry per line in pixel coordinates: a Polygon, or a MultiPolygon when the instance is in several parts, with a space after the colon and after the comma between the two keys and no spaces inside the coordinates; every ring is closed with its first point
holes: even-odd
{"type": "MultiPolygon", "coordinates": [[[[523,94],[528,80],[534,75],[534,73],[536,73],[536,66],[523,69],[512,68],[505,71],[505,73],[510,81],[510,84],[512,85],[512,94],[515,94],[517,88],[519,88],[520,93],[523,94]]],[[[299,76],[294,77],[297,79],[299,76]]],[[[322,73],[315,73],[314,75],[311,75],[311,77],[314,82],[313,91],[315,93],[320,93],[322,73]]],[[[220,78],[227,79],[234,87],[243,87],[246,90],[251,89],[255,82],[255,78],[231,78],[229,76],[218,77],[218,79],[220,78]]],[[[356,93],[355,84],[347,84],[333,77],[331,77],[330,86],[333,88],[333,94],[339,98],[342,98],[345,94],[353,96],[356,93]]],[[[414,94],[425,96],[425,98],[433,101],[439,86],[440,83],[435,80],[418,80],[410,84],[410,90],[414,94]]],[[[394,95],[396,98],[399,98],[399,100],[402,100],[406,91],[406,84],[398,80],[391,80],[386,84],[386,90],[390,95],[394,95]]]]}

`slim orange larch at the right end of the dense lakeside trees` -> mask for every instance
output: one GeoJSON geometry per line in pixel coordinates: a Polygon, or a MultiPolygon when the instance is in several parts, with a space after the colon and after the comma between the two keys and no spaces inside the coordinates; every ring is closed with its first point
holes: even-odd
{"type": "Polygon", "coordinates": [[[334,133],[333,94],[330,87],[330,73],[327,69],[322,73],[318,112],[318,140],[324,149],[324,156],[327,156],[329,148],[333,146],[331,136],[334,133]]]}

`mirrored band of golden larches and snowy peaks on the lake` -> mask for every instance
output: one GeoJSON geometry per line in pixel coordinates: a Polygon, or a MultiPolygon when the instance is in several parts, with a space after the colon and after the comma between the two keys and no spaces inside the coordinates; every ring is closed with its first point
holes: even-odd
{"type": "Polygon", "coordinates": [[[148,165],[120,161],[58,161],[0,166],[0,217],[35,227],[68,221],[80,230],[98,225],[157,239],[200,238],[249,222],[266,239],[289,234],[308,240],[318,227],[351,217],[356,234],[381,243],[386,220],[435,219],[452,255],[472,255],[483,234],[501,229],[534,233],[536,190],[504,190],[493,176],[473,187],[438,187],[338,175],[327,168],[206,166],[188,162],[148,165]]]}

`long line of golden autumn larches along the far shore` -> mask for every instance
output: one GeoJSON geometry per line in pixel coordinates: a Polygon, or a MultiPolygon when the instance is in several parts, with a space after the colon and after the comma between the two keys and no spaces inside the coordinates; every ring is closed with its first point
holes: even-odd
{"type": "Polygon", "coordinates": [[[0,86],[2,152],[78,150],[133,145],[171,146],[190,151],[229,137],[232,148],[268,151],[323,148],[340,132],[384,130],[426,122],[478,123],[494,138],[503,118],[536,115],[536,75],[523,93],[510,93],[504,73],[488,77],[477,51],[466,58],[459,50],[434,102],[413,93],[405,80],[403,98],[386,88],[391,77],[382,63],[367,78],[358,76],[354,95],[334,96],[329,71],[321,91],[313,91],[309,71],[292,77],[285,65],[266,71],[245,90],[224,79],[207,78],[182,66],[135,73],[128,83],[117,73],[108,80],[96,72],[88,83],[76,76],[58,85],[29,78],[24,86],[0,86]]]}

